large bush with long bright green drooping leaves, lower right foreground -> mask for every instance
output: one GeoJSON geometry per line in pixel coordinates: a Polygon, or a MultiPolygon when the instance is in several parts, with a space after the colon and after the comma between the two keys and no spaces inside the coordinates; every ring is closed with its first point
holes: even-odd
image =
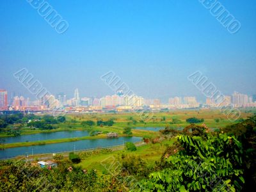
{"type": "Polygon", "coordinates": [[[220,134],[203,141],[198,136],[177,136],[179,147],[166,159],[170,168],[141,180],[138,191],[234,191],[243,186],[243,150],[233,136],[220,134]]]}

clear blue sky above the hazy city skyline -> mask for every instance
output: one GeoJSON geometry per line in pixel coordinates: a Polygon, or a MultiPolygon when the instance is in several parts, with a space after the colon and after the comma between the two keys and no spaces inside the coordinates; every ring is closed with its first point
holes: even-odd
{"type": "Polygon", "coordinates": [[[26,0],[0,3],[0,89],[32,97],[27,68],[52,94],[101,97],[109,71],[146,98],[202,97],[202,72],[223,94],[256,93],[256,1],[219,1],[241,23],[230,34],[198,0],[48,0],[69,27],[56,33],[26,0]]]}

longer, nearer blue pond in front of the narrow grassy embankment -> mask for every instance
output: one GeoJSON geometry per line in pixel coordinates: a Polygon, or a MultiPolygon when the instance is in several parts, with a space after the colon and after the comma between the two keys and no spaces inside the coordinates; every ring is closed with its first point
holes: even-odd
{"type": "Polygon", "coordinates": [[[126,142],[141,141],[140,137],[121,137],[111,139],[97,139],[97,140],[80,140],[65,143],[52,143],[47,145],[36,145],[29,147],[14,147],[0,150],[0,159],[12,158],[16,156],[31,156],[35,154],[51,154],[57,152],[67,152],[72,150],[85,150],[91,148],[111,147],[116,145],[123,145],[126,142]]]}

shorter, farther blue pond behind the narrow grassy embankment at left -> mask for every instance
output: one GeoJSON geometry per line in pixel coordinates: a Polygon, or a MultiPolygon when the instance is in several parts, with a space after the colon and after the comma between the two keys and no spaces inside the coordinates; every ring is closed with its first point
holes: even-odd
{"type": "Polygon", "coordinates": [[[42,132],[36,134],[24,134],[20,136],[4,137],[4,143],[20,143],[30,141],[56,140],[62,138],[79,138],[88,136],[88,131],[58,131],[58,132],[42,132]]]}

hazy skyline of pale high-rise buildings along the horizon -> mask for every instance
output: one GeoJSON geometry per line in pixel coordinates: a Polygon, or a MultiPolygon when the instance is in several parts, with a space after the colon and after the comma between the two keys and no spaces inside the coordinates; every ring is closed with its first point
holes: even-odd
{"type": "Polygon", "coordinates": [[[0,111],[51,111],[61,109],[65,112],[101,112],[101,111],[129,111],[137,109],[186,109],[186,108],[219,108],[226,106],[236,108],[255,108],[256,96],[250,97],[246,94],[234,92],[231,96],[222,98],[207,98],[205,103],[200,103],[196,97],[172,97],[167,104],[161,103],[159,99],[144,99],[137,95],[124,95],[119,91],[115,95],[106,95],[101,98],[80,97],[76,89],[74,97],[67,99],[67,95],[45,95],[39,100],[31,101],[22,96],[13,96],[8,102],[7,91],[0,90],[0,111]]]}

